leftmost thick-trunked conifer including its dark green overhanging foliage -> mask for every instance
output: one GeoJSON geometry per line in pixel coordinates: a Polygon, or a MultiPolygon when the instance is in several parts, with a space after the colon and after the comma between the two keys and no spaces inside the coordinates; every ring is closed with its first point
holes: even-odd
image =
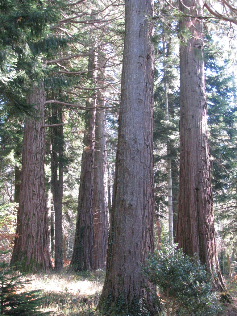
{"type": "MultiPolygon", "coordinates": [[[[47,2],[42,6],[37,2],[15,1],[11,5],[6,2],[1,18],[4,21],[1,33],[6,45],[4,48],[16,58],[12,64],[14,79],[10,83],[2,82],[2,94],[6,102],[18,111],[33,110],[33,115],[26,119],[24,125],[16,230],[19,237],[15,238],[11,264],[19,264],[22,270],[49,270],[52,264],[46,222],[43,128],[46,58],[40,60],[39,55],[48,50],[42,42],[51,40],[50,36],[46,36],[48,24],[58,18],[58,9],[47,2]]],[[[8,68],[5,76],[9,76],[8,68]]]]}

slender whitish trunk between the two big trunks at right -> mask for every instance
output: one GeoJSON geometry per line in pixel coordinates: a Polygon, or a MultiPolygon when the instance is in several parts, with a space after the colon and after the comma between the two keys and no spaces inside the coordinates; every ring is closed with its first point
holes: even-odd
{"type": "MultiPolygon", "coordinates": [[[[165,86],[165,118],[169,120],[169,104],[168,104],[168,89],[166,82],[166,65],[165,65],[165,40],[163,40],[163,60],[164,60],[164,86],[165,86]]],[[[173,246],[173,199],[172,199],[172,170],[170,159],[170,143],[167,142],[167,176],[168,176],[168,218],[169,218],[169,244],[173,246]]]]}

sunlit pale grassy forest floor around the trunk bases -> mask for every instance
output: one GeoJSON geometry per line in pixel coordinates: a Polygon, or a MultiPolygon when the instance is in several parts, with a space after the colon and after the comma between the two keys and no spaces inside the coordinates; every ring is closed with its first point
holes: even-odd
{"type": "MultiPolygon", "coordinates": [[[[29,274],[24,290],[42,290],[40,310],[50,316],[96,316],[95,307],[102,291],[105,271],[29,274]]],[[[237,316],[237,284],[227,282],[234,304],[222,304],[220,316],[237,316]]]]}

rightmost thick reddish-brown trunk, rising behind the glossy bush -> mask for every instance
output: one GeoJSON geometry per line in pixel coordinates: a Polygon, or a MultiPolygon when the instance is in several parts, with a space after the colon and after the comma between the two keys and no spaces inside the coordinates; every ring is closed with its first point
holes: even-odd
{"type": "MultiPolygon", "coordinates": [[[[202,0],[179,2],[179,9],[188,15],[202,16],[202,8],[202,0]]],[[[216,270],[216,288],[225,292],[214,229],[207,138],[203,22],[186,17],[182,19],[180,27],[186,27],[192,36],[185,45],[180,46],[180,170],[176,238],[185,254],[193,256],[197,253],[211,272],[216,270]]],[[[231,299],[228,294],[226,298],[231,299]]]]}

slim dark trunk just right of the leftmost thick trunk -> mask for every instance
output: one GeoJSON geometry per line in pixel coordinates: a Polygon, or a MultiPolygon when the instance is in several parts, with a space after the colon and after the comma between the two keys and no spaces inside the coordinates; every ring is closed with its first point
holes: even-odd
{"type": "MultiPolygon", "coordinates": [[[[52,105],[52,124],[63,123],[62,108],[52,105]]],[[[62,231],[62,209],[63,209],[63,126],[51,128],[51,190],[55,213],[55,253],[54,269],[60,272],[63,269],[63,231],[62,231]]]]}

